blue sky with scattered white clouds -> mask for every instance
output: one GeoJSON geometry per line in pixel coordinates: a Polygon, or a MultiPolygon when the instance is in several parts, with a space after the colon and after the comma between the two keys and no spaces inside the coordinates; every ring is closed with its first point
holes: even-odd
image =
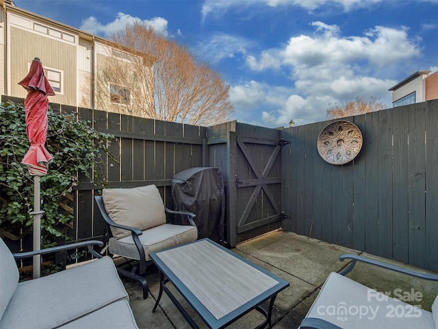
{"type": "Polygon", "coordinates": [[[182,42],[230,85],[234,119],[263,127],[324,121],[356,97],[438,71],[438,0],[14,0],[110,38],[140,19],[182,42]]]}

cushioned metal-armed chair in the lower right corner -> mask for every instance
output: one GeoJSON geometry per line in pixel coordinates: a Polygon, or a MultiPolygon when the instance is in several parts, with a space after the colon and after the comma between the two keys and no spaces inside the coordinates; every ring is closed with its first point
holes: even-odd
{"type": "Polygon", "coordinates": [[[438,275],[404,269],[363,256],[345,254],[339,257],[341,261],[345,259],[352,259],[352,263],[343,271],[329,275],[302,320],[300,329],[438,328],[438,296],[432,305],[432,312],[428,312],[344,276],[358,260],[424,280],[438,281],[438,275]]]}

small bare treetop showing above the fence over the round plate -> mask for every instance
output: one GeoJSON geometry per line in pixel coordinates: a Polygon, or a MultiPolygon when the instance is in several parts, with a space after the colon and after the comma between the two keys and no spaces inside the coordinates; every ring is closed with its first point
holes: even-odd
{"type": "Polygon", "coordinates": [[[335,105],[328,108],[326,119],[351,117],[353,115],[374,112],[385,108],[385,104],[377,101],[374,97],[370,97],[369,99],[356,97],[355,101],[343,103],[342,106],[335,105]]]}

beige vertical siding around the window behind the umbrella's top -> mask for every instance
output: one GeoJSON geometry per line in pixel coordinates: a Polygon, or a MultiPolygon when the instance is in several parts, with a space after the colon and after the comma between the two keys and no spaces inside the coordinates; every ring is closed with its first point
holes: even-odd
{"type": "Polygon", "coordinates": [[[77,49],[66,42],[46,38],[24,29],[10,29],[10,95],[25,97],[25,89],[18,85],[29,72],[29,63],[38,57],[43,66],[63,72],[62,95],[49,97],[53,103],[76,106],[77,103],[77,49]]]}

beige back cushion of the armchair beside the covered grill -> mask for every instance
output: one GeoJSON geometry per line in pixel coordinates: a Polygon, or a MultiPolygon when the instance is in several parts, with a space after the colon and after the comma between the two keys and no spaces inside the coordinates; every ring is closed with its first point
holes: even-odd
{"type": "MultiPolygon", "coordinates": [[[[134,188],[103,188],[103,203],[111,219],[118,224],[147,230],[166,223],[162,196],[155,185],[134,188]]],[[[131,235],[120,228],[111,228],[116,239],[131,235]]]]}

